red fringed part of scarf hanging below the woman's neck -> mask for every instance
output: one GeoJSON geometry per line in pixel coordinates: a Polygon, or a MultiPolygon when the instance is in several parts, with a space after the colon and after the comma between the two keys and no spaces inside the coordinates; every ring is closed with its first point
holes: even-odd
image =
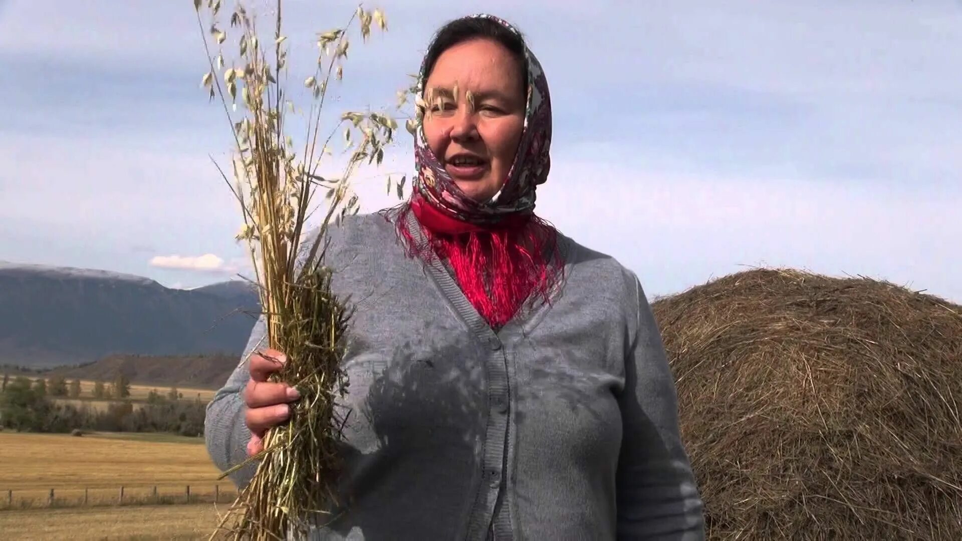
{"type": "Polygon", "coordinates": [[[408,210],[427,239],[418,244],[402,215],[398,227],[410,255],[446,262],[468,301],[495,329],[510,322],[526,301],[549,302],[564,261],[557,253],[557,231],[544,220],[524,215],[474,225],[445,216],[419,197],[408,210]]]}

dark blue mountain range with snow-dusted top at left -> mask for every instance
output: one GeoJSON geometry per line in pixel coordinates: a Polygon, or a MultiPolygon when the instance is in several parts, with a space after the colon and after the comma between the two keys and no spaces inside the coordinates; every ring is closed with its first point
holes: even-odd
{"type": "Polygon", "coordinates": [[[0,262],[0,365],[49,368],[118,354],[236,359],[257,306],[246,282],[188,291],[106,270],[0,262]]]}

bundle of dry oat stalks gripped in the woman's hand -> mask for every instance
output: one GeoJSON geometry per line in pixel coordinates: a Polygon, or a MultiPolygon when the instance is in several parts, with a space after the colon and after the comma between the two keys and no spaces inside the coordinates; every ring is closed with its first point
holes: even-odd
{"type": "MultiPolygon", "coordinates": [[[[297,108],[285,85],[289,41],[282,2],[266,6],[266,29],[258,28],[261,17],[242,2],[227,10],[220,0],[194,0],[194,8],[210,64],[202,84],[211,99],[223,104],[236,143],[233,181],[217,168],[241,203],[238,240],[249,246],[260,286],[266,346],[284,351],[289,359],[272,379],[296,385],[302,395],[292,407],[291,422],[268,431],[265,451],[231,470],[257,464],[253,479],[212,537],[299,537],[312,514],[339,504],[336,446],[345,415],[338,399],[348,384],[341,359],[350,310],[348,299],[331,292],[325,232],[332,220],[357,213],[350,179],[359,166],[381,164],[397,127],[386,114],[349,112],[336,116],[330,131],[322,134],[321,113],[329,87],[343,76],[348,31],[355,28],[367,41],[372,26],[383,31],[387,23],[380,11],[359,7],[346,25],[317,34],[314,72],[296,79],[313,100],[295,143],[289,135],[296,123],[288,116],[297,108]],[[229,20],[224,23],[222,16],[229,20]],[[237,51],[233,60],[225,57],[228,48],[237,51]],[[331,141],[342,130],[346,165],[339,178],[324,178],[319,167],[332,155],[331,141]],[[314,200],[317,190],[324,193],[323,201],[314,200]],[[324,207],[313,228],[319,234],[308,236],[309,219],[324,207]]],[[[390,177],[388,182],[390,190],[390,177]]]]}

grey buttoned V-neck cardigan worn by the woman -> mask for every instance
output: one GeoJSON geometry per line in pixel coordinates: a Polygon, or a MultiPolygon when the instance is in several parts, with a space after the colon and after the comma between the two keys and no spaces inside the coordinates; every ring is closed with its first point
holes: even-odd
{"type": "MultiPolygon", "coordinates": [[[[405,255],[385,217],[346,219],[330,239],[333,287],[356,307],[340,487],[351,503],[312,538],[704,538],[673,378],[633,272],[561,236],[560,294],[495,332],[443,266],[405,255]]],[[[246,357],[263,336],[259,322],[208,406],[223,470],[245,458],[246,357]]]]}

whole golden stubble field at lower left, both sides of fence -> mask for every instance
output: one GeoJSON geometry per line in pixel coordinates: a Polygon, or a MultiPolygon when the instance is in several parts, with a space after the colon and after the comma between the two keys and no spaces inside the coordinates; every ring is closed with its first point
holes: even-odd
{"type": "Polygon", "coordinates": [[[230,481],[217,480],[201,438],[8,430],[0,432],[0,464],[4,540],[202,538],[235,496],[230,481]],[[185,503],[188,486],[191,501],[204,503],[185,503]],[[167,503],[152,504],[158,498],[167,503]]]}

